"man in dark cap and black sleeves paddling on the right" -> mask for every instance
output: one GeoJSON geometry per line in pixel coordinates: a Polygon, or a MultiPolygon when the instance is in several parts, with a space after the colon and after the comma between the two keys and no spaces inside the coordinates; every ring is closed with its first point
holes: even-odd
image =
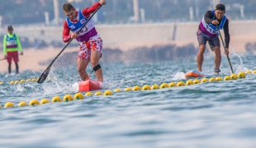
{"type": "Polygon", "coordinates": [[[217,4],[216,9],[206,12],[203,17],[198,31],[197,40],[199,43],[199,51],[197,53],[197,67],[198,71],[201,72],[201,65],[203,62],[203,53],[206,50],[206,42],[211,47],[211,50],[215,52],[215,70],[214,72],[219,75],[220,72],[220,39],[218,28],[224,30],[225,33],[225,54],[229,55],[229,44],[230,44],[230,33],[229,33],[229,20],[226,18],[225,6],[223,4],[217,4]],[[218,28],[217,28],[218,26],[218,28]]]}

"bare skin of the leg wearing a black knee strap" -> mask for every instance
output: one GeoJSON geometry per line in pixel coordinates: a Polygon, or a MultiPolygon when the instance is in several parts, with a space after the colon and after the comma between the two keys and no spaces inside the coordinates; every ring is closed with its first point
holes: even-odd
{"type": "MultiPolygon", "coordinates": [[[[98,52],[98,51],[92,51],[91,54],[91,62],[92,62],[92,67],[96,67],[98,65],[98,61],[100,60],[102,56],[102,53],[98,52]]],[[[103,74],[102,74],[102,68],[98,69],[95,72],[95,75],[97,77],[97,81],[103,81],[103,74]]]]}

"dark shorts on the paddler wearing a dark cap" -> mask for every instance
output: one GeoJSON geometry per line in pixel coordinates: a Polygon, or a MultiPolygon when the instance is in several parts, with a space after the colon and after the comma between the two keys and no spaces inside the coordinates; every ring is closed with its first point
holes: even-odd
{"type": "Polygon", "coordinates": [[[197,31],[197,40],[198,40],[199,46],[201,44],[206,44],[206,42],[208,41],[208,44],[210,45],[210,48],[212,51],[214,51],[213,49],[216,46],[220,47],[219,36],[217,36],[216,38],[209,38],[209,37],[207,37],[207,35],[205,33],[201,32],[201,30],[197,31]]]}

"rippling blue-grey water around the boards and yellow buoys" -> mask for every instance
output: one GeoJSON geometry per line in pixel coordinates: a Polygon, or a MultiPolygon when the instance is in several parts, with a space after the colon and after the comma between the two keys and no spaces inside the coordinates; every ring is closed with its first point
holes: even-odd
{"type": "MultiPolygon", "coordinates": [[[[220,76],[230,74],[222,58],[220,76]]],[[[254,70],[255,57],[230,55],[237,69],[254,70]]],[[[213,57],[204,72],[213,75],[213,57]]],[[[195,60],[103,64],[104,90],[185,81],[195,60]]],[[[89,69],[88,69],[89,72],[89,69]]],[[[40,76],[21,72],[15,81],[40,76]]],[[[52,81],[0,86],[0,104],[52,99],[76,93],[76,67],[50,72],[52,81]]],[[[93,78],[93,76],[92,76],[93,78]]],[[[89,96],[73,102],[0,109],[1,147],[255,147],[256,75],[237,81],[209,82],[162,90],[89,96]]]]}

